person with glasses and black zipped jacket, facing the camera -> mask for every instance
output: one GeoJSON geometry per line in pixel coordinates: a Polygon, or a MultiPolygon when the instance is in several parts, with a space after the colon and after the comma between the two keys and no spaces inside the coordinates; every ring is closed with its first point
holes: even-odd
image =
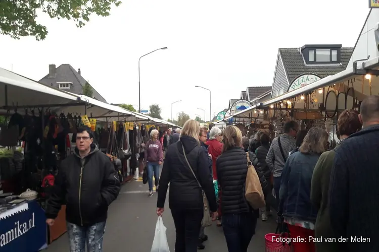
{"type": "Polygon", "coordinates": [[[76,134],[74,154],[62,161],[54,192],[46,205],[46,223],[54,225],[61,206],[66,204],[70,251],[103,251],[103,233],[108,206],[120,192],[116,170],[104,153],[92,144],[86,126],[76,134]]]}

